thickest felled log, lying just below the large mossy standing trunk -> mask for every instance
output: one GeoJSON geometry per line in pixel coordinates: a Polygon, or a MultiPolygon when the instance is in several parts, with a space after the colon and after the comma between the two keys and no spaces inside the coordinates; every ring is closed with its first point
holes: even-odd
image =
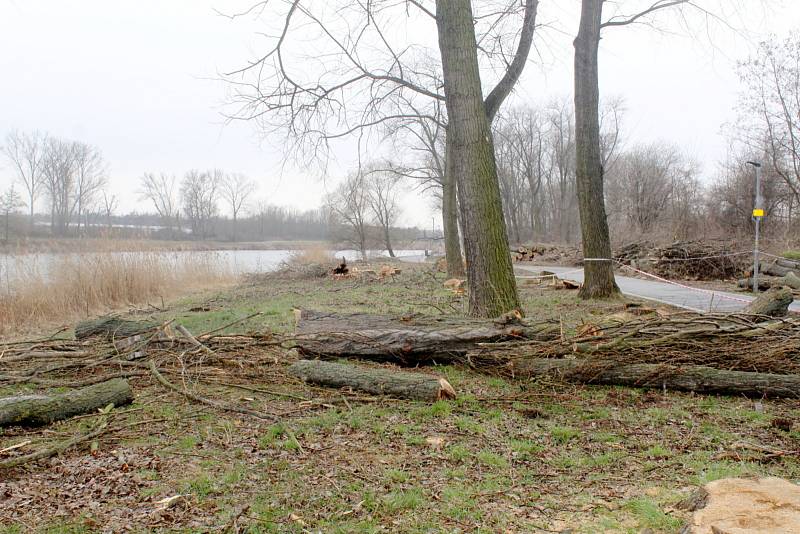
{"type": "Polygon", "coordinates": [[[303,310],[299,313],[294,339],[305,354],[325,358],[354,356],[410,365],[448,361],[479,343],[558,336],[555,323],[533,325],[524,321],[476,321],[443,316],[392,318],[303,310]]]}

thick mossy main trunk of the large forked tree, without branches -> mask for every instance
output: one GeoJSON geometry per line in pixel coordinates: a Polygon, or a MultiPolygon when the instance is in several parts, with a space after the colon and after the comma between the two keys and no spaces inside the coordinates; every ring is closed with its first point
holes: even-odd
{"type": "Polygon", "coordinates": [[[489,118],[481,92],[470,0],[437,0],[436,24],[446,95],[447,150],[452,151],[469,312],[480,317],[519,308],[489,118]]]}

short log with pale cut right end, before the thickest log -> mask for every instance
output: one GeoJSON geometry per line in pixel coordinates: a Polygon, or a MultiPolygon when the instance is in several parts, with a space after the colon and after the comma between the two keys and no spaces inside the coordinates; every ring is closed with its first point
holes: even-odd
{"type": "Polygon", "coordinates": [[[456,398],[456,392],[447,380],[423,373],[320,360],[297,361],[289,366],[289,373],[312,384],[352,388],[372,395],[429,402],[456,398]]]}

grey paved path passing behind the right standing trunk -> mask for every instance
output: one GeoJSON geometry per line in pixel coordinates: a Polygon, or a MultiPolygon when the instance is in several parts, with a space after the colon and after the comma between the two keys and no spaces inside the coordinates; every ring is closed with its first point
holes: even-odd
{"type": "MultiPolygon", "coordinates": [[[[579,267],[547,267],[536,265],[514,265],[521,278],[535,276],[540,271],[550,271],[563,274],[563,278],[583,282],[583,269],[579,267]]],[[[688,289],[657,280],[641,280],[628,276],[616,275],[617,285],[620,290],[631,297],[654,300],[664,304],[671,304],[679,308],[699,312],[733,312],[741,310],[753,297],[745,293],[727,293],[724,291],[710,291],[688,289]],[[747,302],[744,302],[747,301],[747,302]]],[[[800,303],[794,302],[789,309],[800,312],[800,303]]]]}

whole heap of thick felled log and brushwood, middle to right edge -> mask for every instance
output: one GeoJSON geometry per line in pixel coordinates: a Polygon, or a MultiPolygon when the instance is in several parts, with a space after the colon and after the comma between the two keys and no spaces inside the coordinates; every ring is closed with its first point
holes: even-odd
{"type": "MultiPolygon", "coordinates": [[[[759,307],[781,315],[789,302],[790,294],[787,299],[785,290],[775,290],[759,307]]],[[[466,323],[436,329],[420,319],[409,321],[410,326],[388,317],[310,312],[301,315],[296,339],[303,352],[316,357],[408,365],[446,356],[481,372],[516,378],[548,375],[588,384],[800,396],[800,320],[795,318],[753,312],[626,315],[583,325],[571,338],[549,322],[512,318],[484,322],[473,335],[466,323]],[[487,335],[491,331],[494,335],[487,335]]]]}

